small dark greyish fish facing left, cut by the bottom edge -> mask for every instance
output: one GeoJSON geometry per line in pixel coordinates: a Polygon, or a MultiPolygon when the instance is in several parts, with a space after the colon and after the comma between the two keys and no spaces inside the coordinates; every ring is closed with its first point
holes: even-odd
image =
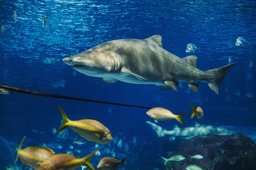
{"type": "Polygon", "coordinates": [[[115,157],[104,157],[101,159],[101,161],[99,161],[97,169],[111,170],[118,168],[119,165],[126,167],[126,165],[124,164],[124,160],[125,157],[122,160],[118,160],[115,157]]]}

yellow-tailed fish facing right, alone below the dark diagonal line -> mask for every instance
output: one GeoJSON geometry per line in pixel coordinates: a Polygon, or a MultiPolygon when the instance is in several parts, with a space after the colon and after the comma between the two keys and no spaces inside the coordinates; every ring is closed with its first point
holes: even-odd
{"type": "Polygon", "coordinates": [[[106,144],[113,141],[110,130],[99,123],[99,121],[87,119],[71,121],[69,118],[67,118],[62,108],[59,105],[57,106],[62,113],[63,123],[60,125],[60,128],[56,131],[56,133],[70,127],[77,135],[94,143],[106,144]]]}

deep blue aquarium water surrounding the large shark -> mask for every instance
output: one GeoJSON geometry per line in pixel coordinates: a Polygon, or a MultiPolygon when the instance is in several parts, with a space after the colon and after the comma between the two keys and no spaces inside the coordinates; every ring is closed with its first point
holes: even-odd
{"type": "MultiPolygon", "coordinates": [[[[56,95],[164,107],[174,114],[189,112],[183,118],[186,127],[198,121],[203,125],[228,126],[255,137],[255,7],[255,1],[3,0],[0,21],[5,29],[0,36],[0,84],[56,95]],[[14,10],[19,16],[17,22],[13,22],[14,10]],[[46,27],[42,27],[44,15],[49,19],[46,27]],[[185,83],[180,83],[178,93],[173,89],[162,91],[155,85],[103,84],[101,79],[74,72],[62,62],[62,58],[103,42],[153,35],[161,35],[163,48],[180,58],[196,55],[200,70],[218,68],[229,61],[237,65],[231,68],[216,95],[205,83],[200,84],[198,94],[185,83]],[[246,42],[236,46],[239,37],[246,42]],[[200,51],[186,52],[189,43],[194,43],[200,51]],[[53,61],[49,64],[46,58],[53,61]],[[191,102],[203,108],[205,116],[201,120],[190,119],[191,102]]],[[[113,137],[119,134],[123,143],[129,144],[128,152],[113,143],[100,146],[101,155],[92,158],[94,167],[102,157],[110,156],[104,153],[104,148],[115,148],[119,159],[126,156],[126,169],[164,169],[160,156],[167,157],[169,139],[157,139],[157,134],[146,124],[153,121],[146,114],[148,109],[14,93],[0,97],[0,134],[13,149],[27,135],[30,140],[25,140],[22,148],[45,143],[54,145],[56,153],[66,153],[76,134],[69,128],[69,137],[64,141],[56,140],[52,134],[52,128],[58,128],[61,121],[56,104],[71,120],[98,120],[110,129],[113,137]],[[132,143],[134,136],[136,144],[132,143]],[[58,145],[62,149],[56,148],[58,145]]],[[[181,127],[175,120],[160,121],[158,125],[167,129],[173,125],[181,127]]],[[[95,150],[95,143],[86,142],[83,146],[74,144],[81,150],[74,155],[84,157],[95,150]]],[[[6,164],[1,161],[0,169],[4,169],[6,164]]],[[[17,164],[21,165],[21,161],[17,164]]]]}

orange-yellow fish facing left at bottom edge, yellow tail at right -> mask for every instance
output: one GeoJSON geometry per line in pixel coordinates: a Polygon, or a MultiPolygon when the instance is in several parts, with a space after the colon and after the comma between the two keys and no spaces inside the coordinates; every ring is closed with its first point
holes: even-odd
{"type": "Polygon", "coordinates": [[[87,168],[95,170],[90,164],[90,159],[93,157],[95,150],[86,157],[78,158],[69,154],[58,154],[44,161],[37,170],[46,170],[46,169],[62,169],[62,170],[74,170],[78,167],[84,165],[87,168]]]}

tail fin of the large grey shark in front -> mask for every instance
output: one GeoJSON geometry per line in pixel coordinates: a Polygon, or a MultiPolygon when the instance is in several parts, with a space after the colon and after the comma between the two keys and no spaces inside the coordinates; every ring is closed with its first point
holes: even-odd
{"type": "Polygon", "coordinates": [[[219,84],[225,79],[226,74],[229,72],[230,68],[237,63],[232,63],[230,65],[221,66],[212,70],[207,70],[205,73],[209,75],[210,80],[207,81],[208,86],[215,92],[219,93],[219,84]]]}

